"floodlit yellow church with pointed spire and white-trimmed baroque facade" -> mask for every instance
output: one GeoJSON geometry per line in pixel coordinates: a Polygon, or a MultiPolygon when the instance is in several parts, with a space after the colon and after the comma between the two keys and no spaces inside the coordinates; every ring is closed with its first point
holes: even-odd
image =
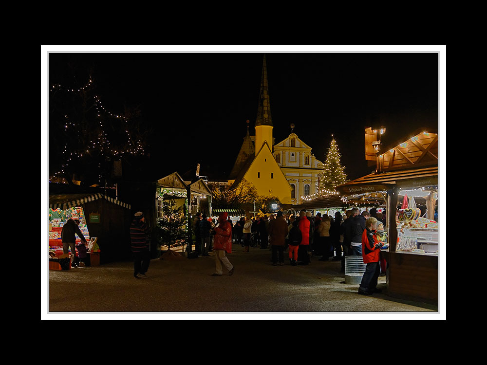
{"type": "Polygon", "coordinates": [[[284,204],[300,204],[302,196],[318,191],[323,163],[294,133],[294,124],[285,140],[274,143],[265,55],[255,136],[250,135],[248,124],[247,120],[244,143],[228,176],[234,181],[232,186],[245,179],[255,185],[259,195],[276,196],[284,204]]]}

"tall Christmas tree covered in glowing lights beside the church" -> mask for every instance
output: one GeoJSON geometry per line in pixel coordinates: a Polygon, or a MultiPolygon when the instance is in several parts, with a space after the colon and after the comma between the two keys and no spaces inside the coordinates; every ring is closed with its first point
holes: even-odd
{"type": "Polygon", "coordinates": [[[319,195],[327,195],[330,191],[334,191],[335,187],[348,181],[345,166],[340,164],[340,157],[337,141],[333,138],[323,165],[323,172],[319,178],[319,195]]]}

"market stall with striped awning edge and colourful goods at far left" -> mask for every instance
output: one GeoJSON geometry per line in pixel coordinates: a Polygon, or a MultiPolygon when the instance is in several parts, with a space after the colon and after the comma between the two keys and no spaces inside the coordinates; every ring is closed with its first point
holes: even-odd
{"type": "MultiPolygon", "coordinates": [[[[79,229],[88,243],[91,265],[96,266],[101,262],[102,249],[104,255],[110,255],[111,251],[120,250],[115,246],[120,246],[123,237],[128,237],[130,205],[99,193],[50,195],[49,253],[53,258],[64,254],[61,231],[68,219],[79,219],[79,229]],[[101,248],[99,243],[103,245],[101,248]]],[[[79,243],[81,240],[76,235],[75,244],[79,243]]],[[[71,249],[69,251],[73,254],[71,249]]]]}

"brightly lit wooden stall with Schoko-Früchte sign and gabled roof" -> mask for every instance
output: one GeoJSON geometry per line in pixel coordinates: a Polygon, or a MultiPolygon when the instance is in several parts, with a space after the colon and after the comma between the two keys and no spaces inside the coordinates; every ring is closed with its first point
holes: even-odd
{"type": "Polygon", "coordinates": [[[438,301],[438,135],[419,132],[387,152],[377,152],[375,173],[337,186],[343,196],[381,192],[386,197],[389,248],[381,250],[387,261],[388,295],[438,301]],[[426,201],[426,211],[405,205],[405,196],[426,201]]]}

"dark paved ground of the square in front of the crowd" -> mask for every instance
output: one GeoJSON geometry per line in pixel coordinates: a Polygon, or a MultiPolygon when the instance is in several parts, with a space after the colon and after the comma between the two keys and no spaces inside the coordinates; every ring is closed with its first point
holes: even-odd
{"type": "Polygon", "coordinates": [[[211,276],[213,256],[153,259],[147,273],[150,278],[140,280],[132,278],[131,262],[69,271],[46,267],[49,279],[41,315],[52,318],[66,312],[101,312],[127,318],[128,313],[243,313],[241,316],[272,312],[288,316],[287,312],[294,312],[317,318],[318,314],[336,318],[360,313],[367,318],[387,313],[439,314],[436,306],[387,296],[385,278],[379,278],[383,293],[357,294],[358,285],[345,284],[340,262],[313,257],[307,266],[291,266],[288,261],[284,266],[272,266],[269,250],[251,248],[250,253],[244,253],[241,246],[234,245],[233,251],[228,255],[235,265],[232,276],[226,271],[223,276],[211,276]]]}

